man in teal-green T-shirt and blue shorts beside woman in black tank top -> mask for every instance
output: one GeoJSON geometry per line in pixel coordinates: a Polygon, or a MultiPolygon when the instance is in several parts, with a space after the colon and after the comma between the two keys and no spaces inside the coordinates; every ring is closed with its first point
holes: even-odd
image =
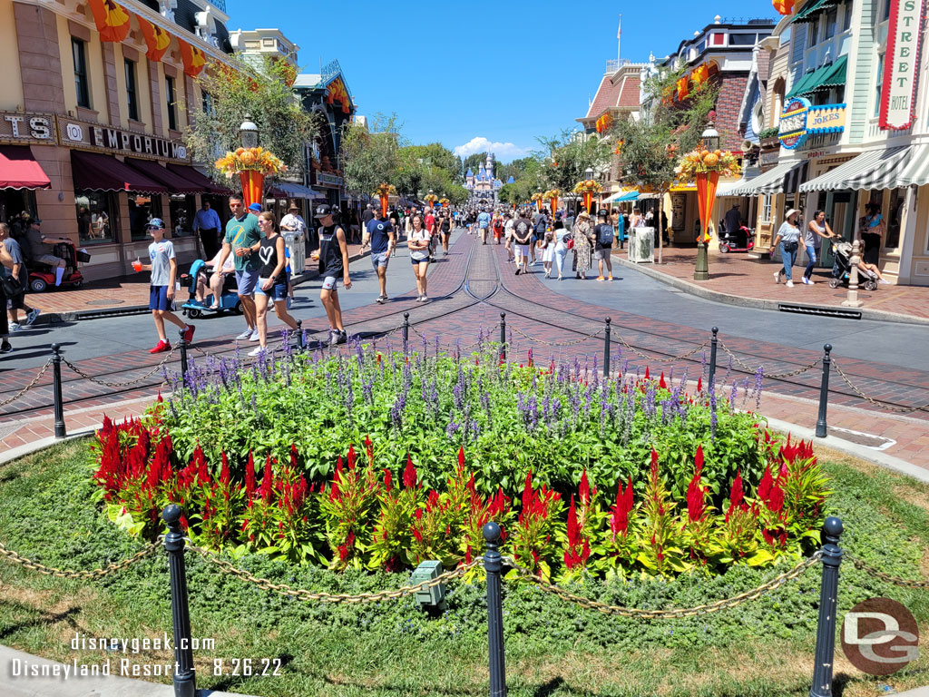
{"type": "MultiPolygon", "coordinates": [[[[220,251],[218,263],[214,267],[214,273],[219,273],[229,255],[233,255],[235,280],[239,300],[242,302],[242,315],[247,326],[245,331],[236,338],[242,341],[257,341],[259,336],[255,321],[255,285],[258,283],[258,268],[261,266],[261,261],[255,253],[261,240],[261,230],[258,229],[258,217],[245,210],[245,202],[241,194],[229,196],[229,210],[232,212],[232,217],[226,223],[223,248],[220,251]]],[[[210,285],[216,286],[219,283],[221,279],[215,279],[210,285]]]]}

